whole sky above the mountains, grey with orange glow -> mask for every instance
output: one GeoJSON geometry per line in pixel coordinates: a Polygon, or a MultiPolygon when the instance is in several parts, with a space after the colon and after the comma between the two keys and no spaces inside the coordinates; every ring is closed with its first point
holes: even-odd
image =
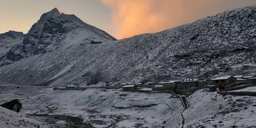
{"type": "Polygon", "coordinates": [[[122,39],[255,4],[256,0],[0,0],[0,33],[27,33],[43,13],[56,7],[122,39]]]}

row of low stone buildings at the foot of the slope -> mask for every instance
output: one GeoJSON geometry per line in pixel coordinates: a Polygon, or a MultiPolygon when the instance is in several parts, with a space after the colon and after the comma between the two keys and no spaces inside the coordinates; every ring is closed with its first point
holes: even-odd
{"type": "MultiPolygon", "coordinates": [[[[247,82],[248,84],[256,84],[256,74],[253,75],[236,75],[236,76],[221,76],[209,80],[202,80],[200,78],[183,79],[182,81],[165,81],[154,83],[152,91],[174,91],[176,93],[189,93],[196,91],[200,87],[209,88],[209,91],[216,91],[216,88],[224,89],[225,86],[235,82],[247,82]]],[[[134,91],[137,90],[137,85],[124,85],[123,90],[134,91]]]]}

